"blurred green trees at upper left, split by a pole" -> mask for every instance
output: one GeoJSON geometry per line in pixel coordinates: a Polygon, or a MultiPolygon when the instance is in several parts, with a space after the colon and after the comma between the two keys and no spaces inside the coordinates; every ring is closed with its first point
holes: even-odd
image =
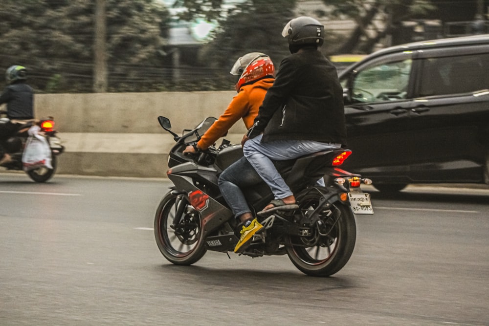
{"type": "MultiPolygon", "coordinates": [[[[106,5],[109,88],[151,87],[161,79],[154,66],[167,60],[167,8],[154,0],[107,0],[106,5]]],[[[26,66],[38,90],[91,91],[94,8],[92,0],[4,0],[0,66],[26,66]]]]}

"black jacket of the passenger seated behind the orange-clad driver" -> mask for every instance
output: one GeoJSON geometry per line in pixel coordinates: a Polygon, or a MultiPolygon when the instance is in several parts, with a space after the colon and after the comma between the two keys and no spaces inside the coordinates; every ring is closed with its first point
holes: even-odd
{"type": "Polygon", "coordinates": [[[248,137],[315,140],[346,145],[343,88],[336,68],[315,48],[286,57],[248,137]]]}

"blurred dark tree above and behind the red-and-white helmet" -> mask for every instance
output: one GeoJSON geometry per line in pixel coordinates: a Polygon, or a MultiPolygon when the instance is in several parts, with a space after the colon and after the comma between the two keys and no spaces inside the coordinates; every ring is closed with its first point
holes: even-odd
{"type": "MultiPolygon", "coordinates": [[[[177,0],[175,6],[187,10],[180,19],[205,19],[218,22],[219,27],[211,34],[211,41],[202,46],[199,63],[220,68],[220,83],[228,83],[235,77],[227,74],[234,62],[248,52],[264,52],[278,67],[288,53],[288,44],[281,33],[285,24],[294,17],[296,0],[247,0],[235,6],[225,6],[223,0],[177,0]],[[225,75],[223,71],[226,71],[225,75]]],[[[216,72],[218,72],[216,70],[216,72]]],[[[232,86],[231,86],[232,87],[232,86]]]]}

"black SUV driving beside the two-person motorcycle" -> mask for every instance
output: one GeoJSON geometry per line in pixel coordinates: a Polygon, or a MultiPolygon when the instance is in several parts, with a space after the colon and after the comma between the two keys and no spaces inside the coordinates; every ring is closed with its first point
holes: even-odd
{"type": "Polygon", "coordinates": [[[346,170],[380,191],[489,183],[489,34],[386,48],[339,78],[346,170]]]}

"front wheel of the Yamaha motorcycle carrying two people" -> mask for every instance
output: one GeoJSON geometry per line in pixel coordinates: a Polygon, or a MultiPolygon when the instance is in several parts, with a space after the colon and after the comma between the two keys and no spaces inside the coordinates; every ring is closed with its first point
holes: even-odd
{"type": "Polygon", "coordinates": [[[163,256],[177,265],[199,261],[206,252],[201,236],[199,212],[182,195],[166,194],[155,216],[155,238],[163,256]]]}

